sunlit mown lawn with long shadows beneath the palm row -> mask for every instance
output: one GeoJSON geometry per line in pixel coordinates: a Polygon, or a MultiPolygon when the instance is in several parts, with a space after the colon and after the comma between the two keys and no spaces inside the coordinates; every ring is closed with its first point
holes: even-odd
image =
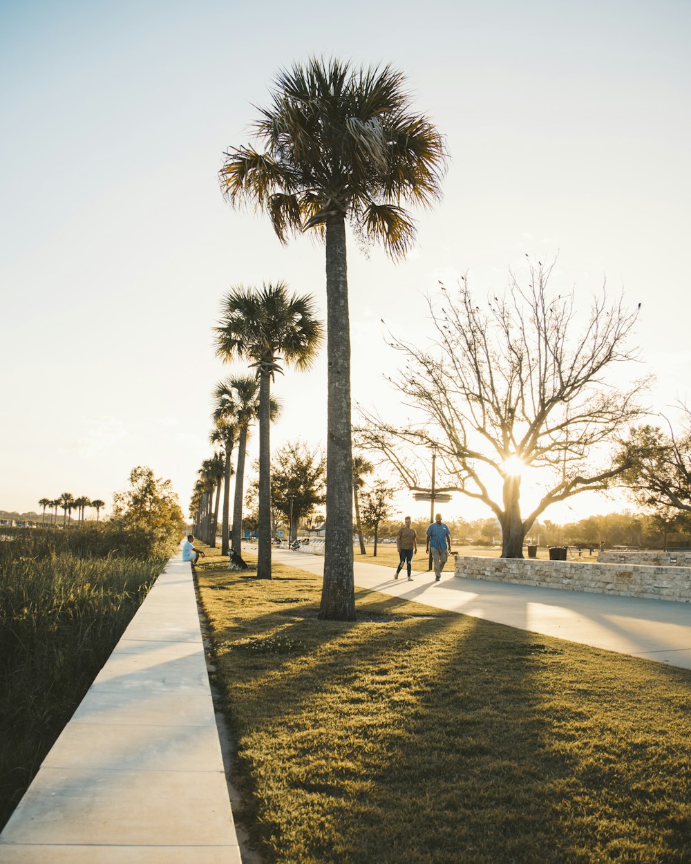
{"type": "Polygon", "coordinates": [[[357,622],[319,621],[320,578],[215,554],[237,816],[267,864],[691,861],[688,670],[357,588],[357,622]]]}

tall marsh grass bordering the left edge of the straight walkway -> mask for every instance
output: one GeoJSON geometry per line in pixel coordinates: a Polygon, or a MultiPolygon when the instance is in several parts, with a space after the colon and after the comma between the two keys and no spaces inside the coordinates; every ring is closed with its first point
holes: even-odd
{"type": "Polygon", "coordinates": [[[0,826],[165,566],[106,551],[104,537],[0,542],[0,826]]]}

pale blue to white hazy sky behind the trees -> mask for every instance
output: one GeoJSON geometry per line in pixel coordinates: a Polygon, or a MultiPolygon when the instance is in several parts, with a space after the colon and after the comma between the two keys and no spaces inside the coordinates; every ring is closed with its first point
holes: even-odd
{"type": "MultiPolygon", "coordinates": [[[[282,279],[325,314],[323,248],[282,246],[217,178],[276,73],[313,55],[403,70],[451,156],[405,262],[351,239],[354,402],[400,410],[382,319],[422,340],[438,281],[496,293],[527,253],[556,258],[552,287],[584,305],[605,278],[642,304],[631,374],[656,376],[650,408],[674,419],[691,367],[690,36],[687,0],[0,0],[0,509],[72,492],[107,512],[148,465],[187,513],[212,389],[238,372],[212,347],[225,292],[282,279]]],[[[320,445],[323,353],[274,392],[272,448],[320,445]]]]}

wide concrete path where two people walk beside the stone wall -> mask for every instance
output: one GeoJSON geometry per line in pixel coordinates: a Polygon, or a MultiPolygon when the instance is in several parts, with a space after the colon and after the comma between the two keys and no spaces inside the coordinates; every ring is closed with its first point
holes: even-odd
{"type": "MultiPolygon", "coordinates": [[[[324,572],[323,556],[276,549],[271,554],[276,562],[324,572]]],[[[440,582],[427,571],[414,572],[412,582],[405,575],[396,581],[393,568],[358,562],[357,555],[354,571],[360,588],[691,669],[691,603],[464,579],[453,571],[442,573],[440,582]]]]}

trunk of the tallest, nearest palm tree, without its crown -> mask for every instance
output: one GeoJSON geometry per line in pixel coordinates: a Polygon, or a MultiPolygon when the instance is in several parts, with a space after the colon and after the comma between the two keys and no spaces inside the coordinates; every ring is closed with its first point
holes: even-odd
{"type": "Polygon", "coordinates": [[[326,543],[319,617],[354,621],[351,338],[342,215],[326,222],[326,361],[326,543]]]}

